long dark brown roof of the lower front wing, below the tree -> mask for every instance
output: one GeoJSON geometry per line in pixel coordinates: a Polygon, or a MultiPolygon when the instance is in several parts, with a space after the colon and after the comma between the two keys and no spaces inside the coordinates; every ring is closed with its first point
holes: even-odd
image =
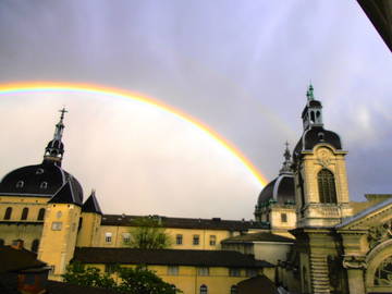
{"type": "Polygon", "coordinates": [[[273,267],[270,262],[256,260],[253,255],[225,250],[77,247],[75,249],[74,259],[83,264],[241,268],[273,267]]]}

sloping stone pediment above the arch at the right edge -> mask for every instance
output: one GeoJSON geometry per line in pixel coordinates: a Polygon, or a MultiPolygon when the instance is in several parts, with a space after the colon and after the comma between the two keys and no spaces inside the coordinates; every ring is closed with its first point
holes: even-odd
{"type": "Polygon", "coordinates": [[[335,228],[341,230],[370,230],[392,221],[392,198],[379,203],[359,213],[345,219],[335,228]]]}

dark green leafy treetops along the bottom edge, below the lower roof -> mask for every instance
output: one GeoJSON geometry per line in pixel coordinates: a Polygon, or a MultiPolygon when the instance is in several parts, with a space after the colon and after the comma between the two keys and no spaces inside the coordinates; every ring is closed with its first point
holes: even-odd
{"type": "Polygon", "coordinates": [[[114,272],[121,278],[120,283],[108,273],[101,273],[94,267],[85,267],[81,262],[72,262],[66,267],[66,273],[63,274],[64,282],[85,285],[98,286],[117,291],[122,294],[176,294],[182,293],[173,284],[164,282],[155,274],[154,271],[145,269],[142,266],[136,268],[117,267],[114,272]]]}

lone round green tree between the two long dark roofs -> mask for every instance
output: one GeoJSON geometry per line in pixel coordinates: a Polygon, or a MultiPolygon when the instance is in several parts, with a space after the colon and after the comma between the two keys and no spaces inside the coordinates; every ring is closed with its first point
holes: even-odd
{"type": "Polygon", "coordinates": [[[171,245],[170,235],[154,217],[134,220],[135,228],[130,231],[131,240],[126,244],[132,248],[163,249],[171,245]]]}

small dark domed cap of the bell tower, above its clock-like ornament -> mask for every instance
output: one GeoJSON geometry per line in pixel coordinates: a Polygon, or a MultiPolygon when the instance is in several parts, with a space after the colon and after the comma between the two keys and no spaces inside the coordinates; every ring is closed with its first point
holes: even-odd
{"type": "Polygon", "coordinates": [[[295,146],[293,152],[294,161],[301,156],[303,150],[313,150],[317,144],[321,143],[327,143],[338,150],[342,149],[342,142],[336,133],[324,130],[322,126],[313,126],[304,132],[295,146]]]}

